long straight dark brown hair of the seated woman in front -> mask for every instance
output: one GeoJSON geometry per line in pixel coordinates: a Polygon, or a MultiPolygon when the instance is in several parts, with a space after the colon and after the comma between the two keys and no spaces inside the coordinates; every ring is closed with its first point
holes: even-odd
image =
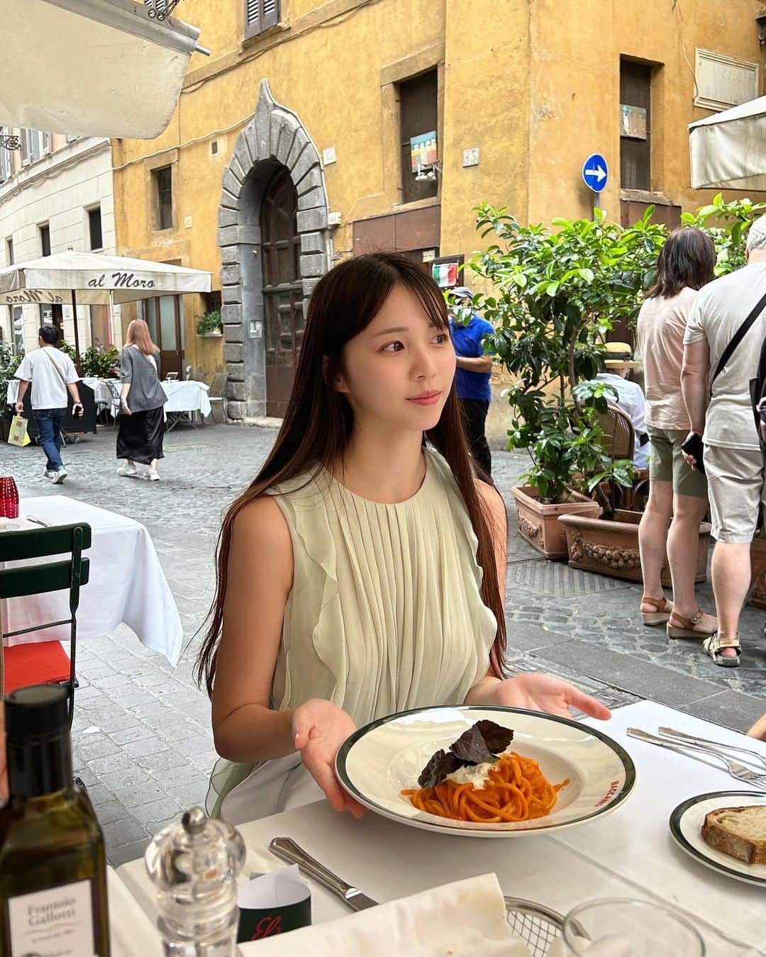
{"type": "MultiPolygon", "coordinates": [[[[346,396],[328,383],[334,382],[342,371],[344,345],[372,322],[396,283],[415,293],[439,329],[449,328],[439,286],[417,263],[394,253],[347,259],[320,279],[311,294],[295,384],[282,429],[256,479],[229,506],[218,536],[215,597],[195,666],[196,679],[199,684],[204,681],[209,695],[213,693],[215,658],[223,629],[229,551],[237,515],[245,505],[275,485],[294,479],[311,468],[317,472],[323,466],[330,468],[333,462],[342,458],[353,428],[353,416],[346,396]]],[[[497,634],[489,660],[492,672],[502,678],[506,618],[490,531],[491,519],[484,514],[474,482],[454,384],[439,422],[425,437],[449,463],[479,540],[477,559],[484,569],[482,599],[497,619],[497,634]]]]}

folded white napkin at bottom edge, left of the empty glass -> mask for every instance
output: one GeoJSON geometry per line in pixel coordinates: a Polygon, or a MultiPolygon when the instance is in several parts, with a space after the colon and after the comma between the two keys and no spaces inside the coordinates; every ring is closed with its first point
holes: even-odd
{"type": "Polygon", "coordinates": [[[494,874],[240,944],[241,957],[530,957],[494,874]]]}

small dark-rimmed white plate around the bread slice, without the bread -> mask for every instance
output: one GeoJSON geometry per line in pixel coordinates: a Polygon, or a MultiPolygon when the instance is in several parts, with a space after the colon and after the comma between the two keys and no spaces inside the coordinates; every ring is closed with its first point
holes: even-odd
{"type": "Polygon", "coordinates": [[[716,851],[702,839],[702,825],[705,815],[718,808],[744,808],[748,805],[766,807],[766,794],[753,790],[715,790],[709,794],[698,794],[672,812],[670,815],[670,834],[678,846],[701,864],[711,867],[719,874],[730,878],[746,880],[749,884],[766,886],[766,864],[746,864],[722,851],[716,851]]]}

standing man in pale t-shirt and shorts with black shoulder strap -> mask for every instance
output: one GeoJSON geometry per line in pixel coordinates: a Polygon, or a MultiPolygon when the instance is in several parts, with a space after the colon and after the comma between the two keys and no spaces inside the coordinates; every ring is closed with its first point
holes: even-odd
{"type": "MultiPolygon", "coordinates": [[[[691,308],[684,336],[681,389],[691,433],[705,446],[710,517],[715,550],[712,590],[718,631],[705,650],[722,667],[739,664],[739,613],[751,584],[750,544],[766,503],[766,472],[755,430],[750,380],[766,336],[766,310],[755,320],[715,379],[723,352],[758,300],[766,294],[766,216],[751,227],[748,264],[704,286],[691,308]],[[707,412],[706,412],[707,406],[707,412]]],[[[690,465],[695,461],[685,456],[690,465]]]]}

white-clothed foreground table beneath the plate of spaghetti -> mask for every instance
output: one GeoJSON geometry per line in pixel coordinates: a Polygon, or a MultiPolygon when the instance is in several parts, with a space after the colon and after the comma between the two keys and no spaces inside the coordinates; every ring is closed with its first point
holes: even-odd
{"type": "MultiPolygon", "coordinates": [[[[766,744],[653,701],[616,709],[608,722],[587,719],[585,723],[614,738],[636,764],[636,789],[612,813],[555,835],[538,832],[480,840],[417,830],[369,811],[356,820],[320,801],[241,825],[238,830],[247,846],[242,879],[251,872],[283,867],[268,845],[274,837],[291,837],[311,857],[376,901],[494,873],[506,895],[564,914],[575,904],[597,898],[670,904],[703,935],[709,957],[766,955],[763,888],[718,874],[687,856],[668,828],[674,808],[693,795],[753,789],[708,764],[636,741],[626,729],[635,726],[656,733],[659,726],[669,725],[687,734],[748,746],[764,755],[766,744]]],[[[740,803],[746,800],[740,798],[740,803]]],[[[155,888],[143,859],[124,864],[118,874],[153,922],[155,888]]],[[[323,886],[306,880],[314,924],[351,913],[323,886]]],[[[288,937],[284,944],[288,957],[294,952],[288,937]]],[[[258,942],[243,945],[240,952],[250,957],[258,953],[258,946],[258,942]]]]}

